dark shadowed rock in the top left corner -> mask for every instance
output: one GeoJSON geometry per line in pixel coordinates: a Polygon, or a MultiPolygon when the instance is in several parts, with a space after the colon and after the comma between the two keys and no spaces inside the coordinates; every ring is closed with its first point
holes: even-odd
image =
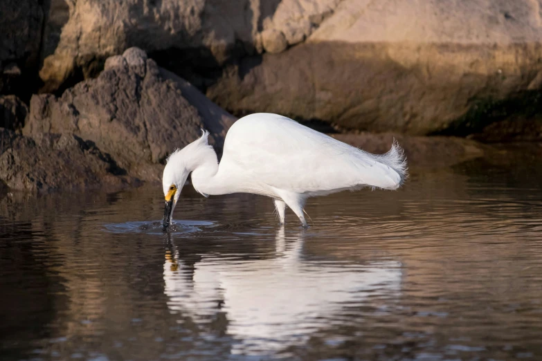
{"type": "Polygon", "coordinates": [[[43,20],[40,1],[2,1],[0,94],[28,95],[33,90],[37,80],[43,20]]]}

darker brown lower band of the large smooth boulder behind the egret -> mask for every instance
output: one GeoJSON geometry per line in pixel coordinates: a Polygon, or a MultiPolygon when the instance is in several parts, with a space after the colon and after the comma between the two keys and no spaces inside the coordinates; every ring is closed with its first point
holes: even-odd
{"type": "Polygon", "coordinates": [[[480,101],[526,89],[541,51],[539,44],[309,42],[264,55],[258,66],[241,62],[207,95],[233,113],[266,111],[344,129],[424,135],[446,129],[480,101]],[[408,67],[392,59],[406,62],[414,54],[417,62],[408,67]]]}

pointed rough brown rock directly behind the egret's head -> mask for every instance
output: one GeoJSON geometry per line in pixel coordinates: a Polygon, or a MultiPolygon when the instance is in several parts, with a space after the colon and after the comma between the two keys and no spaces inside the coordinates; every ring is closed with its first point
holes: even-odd
{"type": "Polygon", "coordinates": [[[127,174],[150,181],[161,179],[166,156],[199,138],[201,128],[222,145],[235,118],[202,100],[190,84],[163,73],[141,49],[129,48],[106,65],[98,78],[67,89],[60,98],[33,96],[24,134],[73,134],[96,144],[127,174]]]}

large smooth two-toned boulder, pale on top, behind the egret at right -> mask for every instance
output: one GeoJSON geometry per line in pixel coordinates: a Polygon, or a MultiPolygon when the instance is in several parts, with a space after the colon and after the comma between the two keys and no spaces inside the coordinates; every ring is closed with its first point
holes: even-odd
{"type": "MultiPolygon", "coordinates": [[[[269,26],[280,23],[283,3],[269,26]]],[[[435,133],[480,102],[539,90],[538,7],[527,0],[345,0],[323,19],[312,17],[321,22],[303,44],[243,59],[206,94],[234,114],[435,133]]]]}

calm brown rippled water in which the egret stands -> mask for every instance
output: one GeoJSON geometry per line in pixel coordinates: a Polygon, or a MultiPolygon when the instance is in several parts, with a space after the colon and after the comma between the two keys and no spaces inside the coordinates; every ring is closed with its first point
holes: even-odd
{"type": "Polygon", "coordinates": [[[1,359],[541,359],[540,176],[415,174],[308,230],[243,194],[186,192],[168,234],[159,187],[3,196],[1,359]]]}

